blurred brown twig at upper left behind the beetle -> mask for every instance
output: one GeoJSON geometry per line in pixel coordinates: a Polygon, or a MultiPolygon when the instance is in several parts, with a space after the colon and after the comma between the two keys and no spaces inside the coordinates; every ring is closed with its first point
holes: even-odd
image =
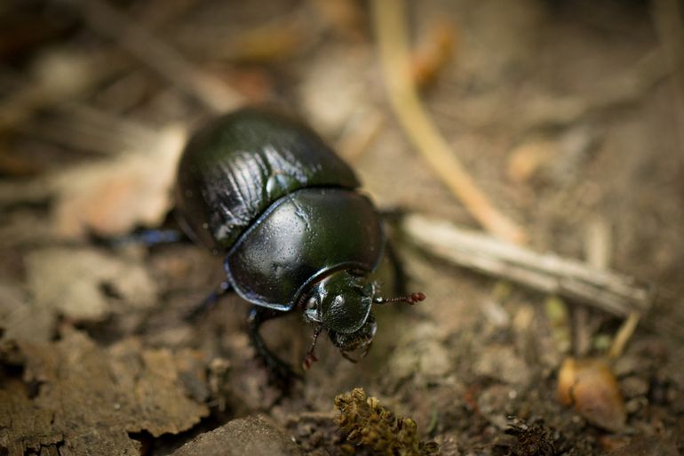
{"type": "Polygon", "coordinates": [[[143,24],[103,0],[74,0],[95,31],[114,39],[183,92],[195,97],[214,113],[239,106],[243,97],[217,77],[197,68],[180,52],[155,36],[143,24]]]}

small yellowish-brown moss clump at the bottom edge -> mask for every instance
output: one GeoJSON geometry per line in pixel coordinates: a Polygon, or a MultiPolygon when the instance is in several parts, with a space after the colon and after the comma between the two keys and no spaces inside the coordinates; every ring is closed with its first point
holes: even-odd
{"type": "Polygon", "coordinates": [[[439,446],[418,439],[418,426],[369,397],[363,388],[335,397],[336,424],[349,442],[386,456],[439,456],[439,446]]]}

